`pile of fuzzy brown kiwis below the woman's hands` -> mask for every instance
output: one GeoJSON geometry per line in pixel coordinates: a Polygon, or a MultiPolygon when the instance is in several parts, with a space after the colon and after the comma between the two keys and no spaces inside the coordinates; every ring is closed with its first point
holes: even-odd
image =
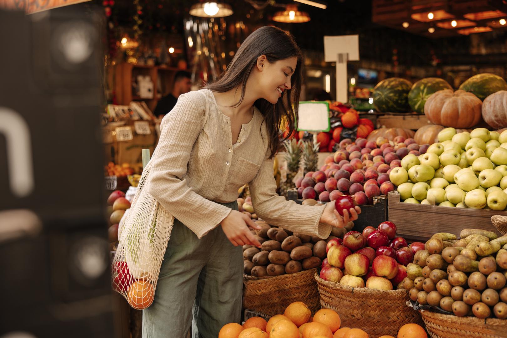
{"type": "Polygon", "coordinates": [[[348,222],[345,228],[333,228],[327,239],[321,239],[271,227],[263,220],[256,223],[261,229],[250,231],[261,242],[261,249],[243,245],[244,273],[255,277],[293,274],[321,266],[328,242],[343,238],[354,227],[354,222],[348,222]]]}

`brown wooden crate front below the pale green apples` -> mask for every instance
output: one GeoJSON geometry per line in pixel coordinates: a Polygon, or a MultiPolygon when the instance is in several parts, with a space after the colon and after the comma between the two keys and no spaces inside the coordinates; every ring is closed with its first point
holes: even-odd
{"type": "Polygon", "coordinates": [[[491,223],[491,216],[507,216],[506,211],[403,203],[396,191],[390,192],[388,199],[389,221],[396,224],[398,236],[410,241],[426,241],[442,232],[459,238],[461,230],[466,228],[489,230],[501,236],[491,223]]]}

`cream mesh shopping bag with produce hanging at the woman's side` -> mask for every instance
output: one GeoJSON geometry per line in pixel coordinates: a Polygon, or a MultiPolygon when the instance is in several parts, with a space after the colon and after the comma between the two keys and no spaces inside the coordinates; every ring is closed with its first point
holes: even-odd
{"type": "Polygon", "coordinates": [[[153,303],[174,217],[144,186],[151,161],[144,168],[137,192],[118,228],[118,249],[112,264],[113,289],[138,310],[153,303]]]}

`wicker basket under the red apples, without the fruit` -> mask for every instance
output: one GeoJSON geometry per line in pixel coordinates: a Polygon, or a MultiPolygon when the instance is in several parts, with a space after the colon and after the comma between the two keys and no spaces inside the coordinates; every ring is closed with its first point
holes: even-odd
{"type": "Polygon", "coordinates": [[[396,336],[402,325],[422,325],[421,315],[407,306],[406,290],[381,291],[369,288],[353,288],[328,282],[315,274],[320,305],[333,309],[340,315],[341,326],[358,327],[371,337],[396,336]]]}

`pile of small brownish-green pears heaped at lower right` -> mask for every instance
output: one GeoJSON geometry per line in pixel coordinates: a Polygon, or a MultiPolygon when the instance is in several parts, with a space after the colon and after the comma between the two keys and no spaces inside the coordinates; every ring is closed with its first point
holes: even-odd
{"type": "Polygon", "coordinates": [[[464,229],[460,237],[433,235],[407,266],[403,287],[412,301],[456,316],[506,319],[507,235],[464,229]]]}

